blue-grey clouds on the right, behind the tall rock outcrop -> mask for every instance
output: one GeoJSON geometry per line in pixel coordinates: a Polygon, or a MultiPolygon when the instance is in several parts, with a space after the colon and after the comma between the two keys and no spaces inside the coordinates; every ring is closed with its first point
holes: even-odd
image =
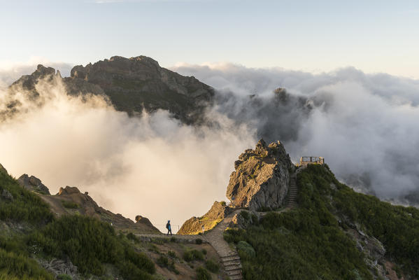
{"type": "Polygon", "coordinates": [[[323,156],[356,190],[418,204],[419,80],[353,67],[318,74],[236,64],[173,71],[218,88],[219,112],[247,123],[258,137],[283,141],[294,162],[323,156]],[[275,101],[276,87],[285,87],[287,102],[275,101]]]}

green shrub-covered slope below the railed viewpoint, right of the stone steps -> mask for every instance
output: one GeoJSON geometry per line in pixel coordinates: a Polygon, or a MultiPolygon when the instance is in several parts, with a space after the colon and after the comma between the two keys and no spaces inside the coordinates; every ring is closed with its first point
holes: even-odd
{"type": "Polygon", "coordinates": [[[308,166],[298,186],[297,209],[271,212],[259,222],[252,219],[246,230],[225,233],[227,241],[237,244],[245,279],[372,279],[363,253],[344,231],[354,223],[383,242],[387,257],[402,271],[416,276],[418,209],[355,193],[327,166],[308,166]]]}

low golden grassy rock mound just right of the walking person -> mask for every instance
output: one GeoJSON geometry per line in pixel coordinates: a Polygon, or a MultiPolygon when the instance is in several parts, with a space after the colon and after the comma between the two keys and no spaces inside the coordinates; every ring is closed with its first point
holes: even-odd
{"type": "Polygon", "coordinates": [[[178,235],[197,235],[202,232],[202,227],[204,227],[204,231],[211,230],[231,212],[232,209],[227,207],[225,202],[214,202],[204,216],[200,218],[192,217],[185,221],[178,231],[178,235]]]}

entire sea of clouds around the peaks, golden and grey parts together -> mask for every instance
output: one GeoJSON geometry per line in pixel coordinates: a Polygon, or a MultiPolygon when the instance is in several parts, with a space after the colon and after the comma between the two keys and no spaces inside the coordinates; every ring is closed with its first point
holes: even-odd
{"type": "MultiPolygon", "coordinates": [[[[69,73],[69,64],[50,65],[69,73]]],[[[34,69],[0,68],[0,111],[7,86],[34,69]]],[[[183,125],[166,111],[129,117],[103,97],[69,97],[55,78],[37,85],[42,106],[21,94],[24,110],[0,123],[1,164],[13,176],[37,176],[51,193],[77,186],[106,209],[155,225],[181,225],[225,200],[234,160],[260,137],[282,141],[294,162],[323,156],[339,179],[383,199],[406,202],[419,190],[419,80],[354,68],[171,69],[215,87],[207,117],[218,125],[183,125]],[[276,87],[286,88],[287,102],[277,101],[276,87]]]]}

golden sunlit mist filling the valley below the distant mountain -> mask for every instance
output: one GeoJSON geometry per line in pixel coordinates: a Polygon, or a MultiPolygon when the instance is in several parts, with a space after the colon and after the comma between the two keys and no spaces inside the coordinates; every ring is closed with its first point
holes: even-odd
{"type": "Polygon", "coordinates": [[[140,214],[155,225],[171,220],[175,231],[225,200],[234,160],[256,141],[246,125],[217,113],[216,129],[194,128],[166,111],[130,118],[104,97],[71,97],[59,78],[36,90],[42,106],[21,98],[23,113],[0,124],[8,172],[34,175],[52,194],[76,186],[114,213],[140,214]]]}

